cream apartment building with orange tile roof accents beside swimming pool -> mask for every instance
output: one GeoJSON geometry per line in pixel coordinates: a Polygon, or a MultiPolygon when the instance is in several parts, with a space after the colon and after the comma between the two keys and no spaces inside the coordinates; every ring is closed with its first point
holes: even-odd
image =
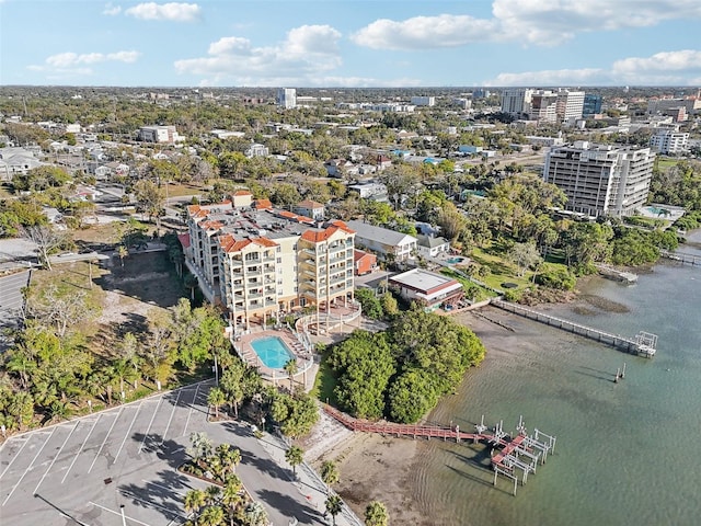
{"type": "Polygon", "coordinates": [[[353,299],[355,232],[342,221],[318,225],[269,202],[192,205],[185,264],[206,299],[226,307],[234,331],[297,307],[319,316],[353,299]]]}

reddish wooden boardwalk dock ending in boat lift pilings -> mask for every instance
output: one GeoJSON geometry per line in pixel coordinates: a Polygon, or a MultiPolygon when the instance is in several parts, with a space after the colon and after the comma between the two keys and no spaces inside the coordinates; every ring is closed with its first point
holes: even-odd
{"type": "Polygon", "coordinates": [[[494,426],[493,432],[487,432],[484,425],[484,416],[481,423],[475,425],[474,433],[460,431],[458,425],[425,425],[425,424],[394,424],[383,422],[369,422],[354,419],[353,416],[322,404],[326,414],[342,423],[350,431],[364,433],[378,433],[383,436],[412,437],[412,438],[443,438],[444,441],[455,439],[457,443],[471,441],[473,444],[484,442],[491,444],[492,469],[494,470],[494,485],[499,474],[507,477],[514,482],[514,495],[518,485],[519,473],[521,484],[528,480],[528,473],[536,472],[538,464],[545,464],[549,454],[554,453],[556,437],[547,435],[539,430],[533,430],[533,435],[528,435],[522,420],[519,421],[517,433],[512,438],[503,431],[502,422],[494,426]]]}

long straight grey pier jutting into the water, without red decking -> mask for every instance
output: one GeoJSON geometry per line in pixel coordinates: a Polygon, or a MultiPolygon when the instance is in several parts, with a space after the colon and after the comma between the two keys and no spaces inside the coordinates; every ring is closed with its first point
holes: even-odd
{"type": "Polygon", "coordinates": [[[563,320],[562,318],[538,312],[537,310],[529,309],[521,305],[510,304],[502,299],[492,299],[491,305],[530,320],[539,321],[547,325],[555,327],[563,331],[572,332],[573,334],[578,334],[599,343],[605,343],[614,348],[619,348],[637,356],[652,358],[656,352],[657,336],[646,332],[641,332],[633,339],[623,338],[618,334],[611,334],[606,331],[600,331],[599,329],[594,329],[593,327],[582,325],[574,321],[563,320]]]}

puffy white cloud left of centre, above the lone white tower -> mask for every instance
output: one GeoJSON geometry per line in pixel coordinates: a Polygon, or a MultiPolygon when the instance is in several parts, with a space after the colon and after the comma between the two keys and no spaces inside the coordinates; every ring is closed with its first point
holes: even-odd
{"type": "Polygon", "coordinates": [[[248,38],[228,36],[209,45],[208,56],[175,61],[179,73],[206,78],[206,85],[279,85],[307,83],[341,66],[341,33],[330,25],[302,25],[273,46],[254,47],[248,38]]]}

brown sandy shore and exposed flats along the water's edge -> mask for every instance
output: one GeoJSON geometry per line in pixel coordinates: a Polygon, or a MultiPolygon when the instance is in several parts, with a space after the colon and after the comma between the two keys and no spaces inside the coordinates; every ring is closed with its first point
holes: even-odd
{"type": "MultiPolygon", "coordinates": [[[[590,313],[627,312],[628,307],[622,304],[606,300],[595,294],[587,294],[587,285],[591,278],[583,284],[584,291],[577,291],[576,298],[560,304],[540,304],[536,308],[543,311],[567,305],[572,309],[583,309],[590,313]]],[[[482,307],[476,311],[462,311],[453,315],[456,321],[470,328],[487,348],[484,362],[478,367],[499,367],[513,358],[515,353],[528,354],[542,344],[542,333],[538,322],[503,311],[495,307],[482,307]]],[[[558,331],[553,341],[567,342],[578,336],[558,331]]],[[[446,396],[428,413],[424,421],[449,424],[452,408],[459,403],[460,392],[471,381],[468,370],[458,388],[458,396],[446,396]]],[[[471,386],[473,387],[473,386],[471,386]]],[[[476,415],[475,415],[476,419],[476,415]]],[[[467,431],[467,426],[466,426],[467,431]]],[[[435,451],[443,441],[411,439],[383,437],[370,434],[348,435],[325,449],[318,459],[312,460],[315,468],[323,460],[334,460],[338,465],[341,481],[335,485],[336,491],[353,511],[363,516],[365,506],[372,500],[383,502],[390,513],[392,524],[414,524],[417,526],[456,524],[450,510],[436,503],[436,495],[430,488],[430,481],[422,477],[422,466],[426,456],[435,451]]],[[[473,446],[462,451],[466,457],[479,458],[486,446],[473,446]]],[[[448,469],[448,468],[447,468],[448,469]]],[[[491,484],[492,471],[480,470],[478,483],[491,484]]],[[[498,490],[495,490],[498,491],[498,490]]],[[[464,525],[464,521],[461,522],[464,525]]]]}

